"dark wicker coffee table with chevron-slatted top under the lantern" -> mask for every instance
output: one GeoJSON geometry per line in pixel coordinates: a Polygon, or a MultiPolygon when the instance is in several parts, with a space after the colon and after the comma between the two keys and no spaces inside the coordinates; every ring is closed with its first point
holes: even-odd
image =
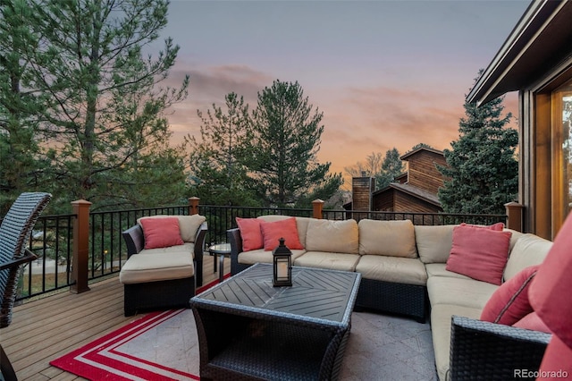
{"type": "Polygon", "coordinates": [[[359,273],[292,267],[273,287],[256,264],[191,298],[201,379],[326,380],[338,377],[359,273]]]}

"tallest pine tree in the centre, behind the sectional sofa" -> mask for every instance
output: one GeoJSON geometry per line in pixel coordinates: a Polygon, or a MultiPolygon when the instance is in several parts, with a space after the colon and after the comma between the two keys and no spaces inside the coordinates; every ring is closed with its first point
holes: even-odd
{"type": "Polygon", "coordinates": [[[329,199],[340,187],[341,174],[329,174],[330,163],[316,157],[323,115],[298,82],[274,80],[258,93],[248,166],[266,206],[309,207],[313,198],[329,199]]]}

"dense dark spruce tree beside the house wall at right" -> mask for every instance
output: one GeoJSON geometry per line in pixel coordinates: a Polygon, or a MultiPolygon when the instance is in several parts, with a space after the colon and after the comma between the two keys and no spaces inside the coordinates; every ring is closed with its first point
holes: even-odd
{"type": "Polygon", "coordinates": [[[478,107],[465,104],[458,140],[443,151],[448,166],[439,166],[445,176],[439,190],[445,212],[504,214],[504,204],[515,199],[518,134],[507,127],[512,115],[502,115],[503,99],[478,107]]]}

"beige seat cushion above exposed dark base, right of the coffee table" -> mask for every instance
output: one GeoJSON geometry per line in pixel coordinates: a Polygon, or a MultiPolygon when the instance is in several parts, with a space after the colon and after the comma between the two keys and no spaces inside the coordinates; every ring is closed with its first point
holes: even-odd
{"type": "Polygon", "coordinates": [[[366,279],[398,284],[425,285],[427,273],[418,258],[364,255],[357,262],[356,271],[366,279]]]}

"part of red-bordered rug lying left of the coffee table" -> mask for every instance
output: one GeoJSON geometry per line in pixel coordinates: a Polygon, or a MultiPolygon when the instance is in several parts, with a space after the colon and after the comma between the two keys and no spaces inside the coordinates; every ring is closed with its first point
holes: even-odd
{"type": "Polygon", "coordinates": [[[192,310],[173,309],[149,313],[50,364],[89,380],[198,380],[198,360],[192,310]]]}

